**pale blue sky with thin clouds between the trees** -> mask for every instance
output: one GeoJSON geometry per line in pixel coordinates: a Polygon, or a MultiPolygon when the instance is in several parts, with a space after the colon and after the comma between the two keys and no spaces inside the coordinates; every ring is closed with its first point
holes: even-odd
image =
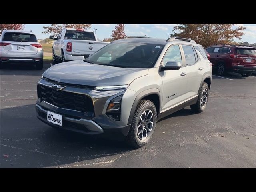
{"type": "MultiPolygon", "coordinates": [[[[100,40],[110,38],[112,30],[116,24],[92,24],[91,30],[96,30],[96,36],[100,40]]],[[[42,34],[43,26],[50,26],[50,24],[25,24],[25,30],[32,30],[38,39],[48,38],[50,34],[42,34]]],[[[169,33],[174,33],[173,27],[176,24],[125,24],[125,32],[128,36],[150,36],[154,38],[167,39],[169,33]]],[[[237,26],[245,26],[245,34],[242,36],[241,42],[256,42],[256,24],[237,24],[237,26]]],[[[234,26],[236,28],[237,26],[234,26]]],[[[234,39],[239,42],[238,39],[234,39]]]]}

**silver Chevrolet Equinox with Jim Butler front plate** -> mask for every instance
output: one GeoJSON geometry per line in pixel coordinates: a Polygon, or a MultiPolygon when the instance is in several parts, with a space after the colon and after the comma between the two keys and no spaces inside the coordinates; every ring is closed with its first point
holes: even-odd
{"type": "Polygon", "coordinates": [[[50,126],[117,132],[139,148],[160,118],[185,106],[204,111],[211,80],[212,65],[193,40],[132,36],[48,68],[37,84],[36,112],[50,126]]]}

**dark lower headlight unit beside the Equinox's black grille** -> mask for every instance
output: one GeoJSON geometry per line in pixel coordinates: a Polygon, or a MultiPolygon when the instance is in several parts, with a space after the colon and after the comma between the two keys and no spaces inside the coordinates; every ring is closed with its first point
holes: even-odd
{"type": "Polygon", "coordinates": [[[106,115],[112,118],[113,120],[120,121],[121,116],[121,100],[122,96],[117,96],[116,98],[112,99],[106,111],[106,115]]]}

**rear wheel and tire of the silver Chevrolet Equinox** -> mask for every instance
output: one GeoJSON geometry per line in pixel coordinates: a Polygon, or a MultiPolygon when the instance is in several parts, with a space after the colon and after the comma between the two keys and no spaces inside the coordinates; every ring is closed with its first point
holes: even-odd
{"type": "Polygon", "coordinates": [[[201,113],[206,109],[206,105],[208,103],[208,97],[209,96],[209,87],[207,83],[203,83],[201,88],[200,88],[200,92],[198,95],[198,100],[196,102],[196,104],[194,105],[190,105],[190,108],[192,109],[192,111],[196,112],[196,113],[201,113]],[[207,90],[207,93],[205,94],[205,90],[207,90]],[[206,96],[206,99],[205,99],[206,96]],[[204,104],[202,105],[202,102],[204,102],[204,104]]]}

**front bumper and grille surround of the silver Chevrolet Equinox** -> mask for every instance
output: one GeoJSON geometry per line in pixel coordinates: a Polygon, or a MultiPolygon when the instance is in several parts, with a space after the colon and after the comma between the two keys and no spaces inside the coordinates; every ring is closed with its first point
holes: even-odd
{"type": "MultiPolygon", "coordinates": [[[[92,99],[94,112],[82,112],[74,109],[68,109],[62,106],[56,106],[52,103],[48,103],[40,99],[40,86],[51,87],[52,82],[40,79],[38,82],[38,100],[36,102],[36,112],[38,118],[50,126],[63,128],[75,132],[84,134],[101,134],[105,132],[120,132],[124,136],[128,134],[130,124],[122,121],[115,121],[107,116],[104,112],[108,106],[109,100],[120,94],[123,94],[124,90],[112,90],[112,91],[96,91],[92,89],[76,88],[67,86],[61,92],[73,92],[87,95],[92,99]],[[51,111],[62,115],[62,126],[52,124],[47,121],[47,111],[51,111]]],[[[122,113],[121,113],[122,117],[122,113]]]]}

